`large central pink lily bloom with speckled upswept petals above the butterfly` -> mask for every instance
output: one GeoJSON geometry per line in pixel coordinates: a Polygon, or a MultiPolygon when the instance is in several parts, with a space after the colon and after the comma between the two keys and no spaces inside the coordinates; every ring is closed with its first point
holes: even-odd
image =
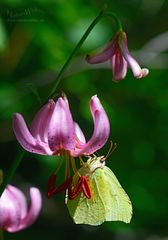
{"type": "Polygon", "coordinates": [[[21,146],[32,153],[60,155],[64,151],[70,156],[89,155],[100,149],[110,133],[108,117],[98,97],[90,101],[94,131],[86,142],[84,134],[73,121],[68,100],[62,97],[44,105],[36,114],[29,130],[21,114],[13,116],[13,129],[21,146]]]}

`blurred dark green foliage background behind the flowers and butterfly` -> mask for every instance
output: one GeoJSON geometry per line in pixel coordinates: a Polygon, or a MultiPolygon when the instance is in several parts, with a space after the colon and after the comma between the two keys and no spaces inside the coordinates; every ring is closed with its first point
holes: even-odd
{"type": "MultiPolygon", "coordinates": [[[[0,165],[4,174],[18,149],[12,131],[13,112],[21,112],[27,123],[31,123],[39,99],[48,95],[60,67],[104,3],[101,0],[1,0],[0,165]]],[[[137,59],[143,65],[141,48],[168,31],[168,1],[109,0],[106,3],[120,17],[128,34],[129,48],[138,50],[137,59]]],[[[5,233],[5,239],[167,239],[167,49],[157,52],[161,59],[159,68],[157,57],[153,67],[151,53],[143,53],[143,59],[149,59],[145,65],[150,69],[148,77],[136,80],[129,71],[126,79],[116,84],[112,82],[109,65],[90,67],[84,63],[85,54],[104,45],[114,32],[110,19],[102,20],[95,27],[62,79],[58,92],[67,94],[74,119],[88,138],[93,129],[89,100],[97,94],[102,101],[111,123],[110,138],[118,145],[107,165],[132,200],[131,224],[74,225],[63,195],[46,198],[47,180],[57,165],[56,157],[27,154],[12,183],[22,189],[38,186],[43,193],[43,210],[32,227],[15,234],[5,233]]],[[[106,154],[108,148],[106,144],[99,153],[106,154]]],[[[63,169],[61,174],[64,176],[63,169]]]]}

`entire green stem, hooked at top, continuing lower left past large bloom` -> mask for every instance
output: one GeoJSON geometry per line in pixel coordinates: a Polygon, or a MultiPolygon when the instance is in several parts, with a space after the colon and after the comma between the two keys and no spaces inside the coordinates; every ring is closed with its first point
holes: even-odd
{"type": "MultiPolygon", "coordinates": [[[[61,68],[60,72],[57,75],[56,81],[51,89],[51,92],[48,95],[48,98],[54,98],[56,95],[56,89],[61,81],[61,78],[64,74],[64,72],[66,71],[66,69],[68,68],[69,64],[71,63],[72,58],[76,55],[77,51],[80,49],[80,47],[82,46],[82,44],[84,43],[84,41],[86,40],[86,38],[88,37],[88,35],[90,34],[90,32],[93,30],[93,28],[96,26],[96,24],[104,17],[112,17],[117,25],[118,30],[122,30],[122,26],[121,26],[121,22],[119,21],[118,17],[116,16],[116,14],[112,13],[112,12],[105,12],[106,10],[106,6],[102,9],[102,11],[99,13],[99,15],[92,21],[92,23],[90,24],[90,26],[87,28],[87,30],[85,31],[85,33],[83,34],[82,38],[80,39],[80,41],[77,43],[77,45],[75,46],[75,48],[73,49],[72,53],[70,54],[70,56],[68,57],[68,59],[66,60],[65,64],[63,65],[63,67],[61,68]]],[[[43,104],[45,102],[44,101],[43,104]]],[[[7,184],[10,182],[10,180],[12,179],[17,167],[19,166],[21,160],[23,159],[25,155],[24,150],[21,150],[18,155],[16,156],[16,159],[14,160],[11,168],[9,169],[9,172],[6,174],[6,176],[4,177],[4,181],[2,182],[2,184],[0,185],[0,196],[2,195],[4,189],[6,188],[7,184]]]]}

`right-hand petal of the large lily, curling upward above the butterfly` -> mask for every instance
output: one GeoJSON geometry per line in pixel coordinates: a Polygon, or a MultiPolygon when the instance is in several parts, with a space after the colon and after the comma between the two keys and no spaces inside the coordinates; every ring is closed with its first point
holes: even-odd
{"type": "Polygon", "coordinates": [[[110,133],[110,123],[103,106],[95,95],[91,98],[90,109],[94,121],[94,131],[90,140],[83,145],[81,150],[76,149],[72,154],[79,156],[81,154],[89,155],[102,148],[106,143],[110,133]]]}

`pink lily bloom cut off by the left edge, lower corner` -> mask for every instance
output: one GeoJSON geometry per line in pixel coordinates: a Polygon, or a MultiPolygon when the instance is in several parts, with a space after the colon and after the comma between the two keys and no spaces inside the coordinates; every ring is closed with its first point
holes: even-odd
{"type": "Polygon", "coordinates": [[[42,198],[37,188],[30,188],[30,206],[24,194],[8,185],[0,198],[0,229],[17,232],[32,225],[38,217],[42,198]]]}

